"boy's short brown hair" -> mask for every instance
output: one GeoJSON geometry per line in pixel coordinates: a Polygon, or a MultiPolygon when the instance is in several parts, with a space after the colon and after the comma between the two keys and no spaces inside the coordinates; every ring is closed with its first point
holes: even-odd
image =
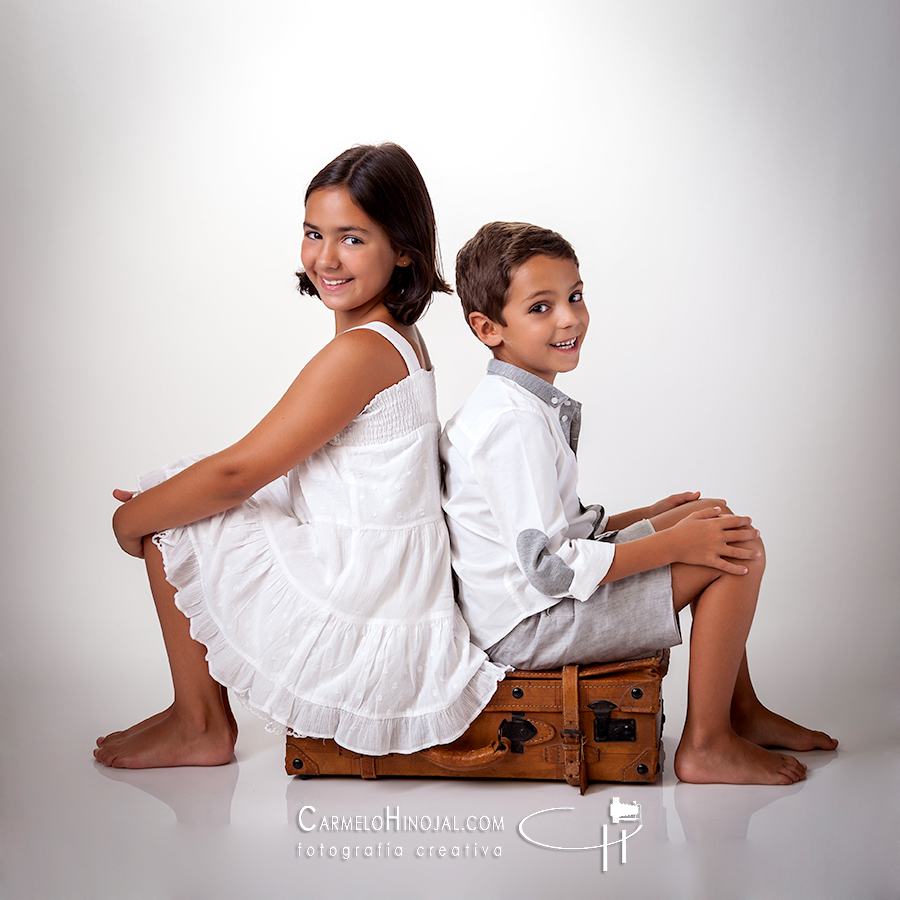
{"type": "Polygon", "coordinates": [[[506,325],[503,307],[513,269],[538,255],[571,259],[578,265],[572,245],[549,228],[527,222],[482,225],[456,254],[456,293],[466,321],[470,313],[480,312],[492,322],[506,325]]]}

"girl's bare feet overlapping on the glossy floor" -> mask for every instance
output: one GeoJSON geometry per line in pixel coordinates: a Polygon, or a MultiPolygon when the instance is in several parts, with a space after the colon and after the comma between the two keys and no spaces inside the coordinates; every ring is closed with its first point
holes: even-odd
{"type": "Polygon", "coordinates": [[[109,735],[94,757],[117,769],[224,765],[234,758],[234,734],[224,712],[214,713],[212,721],[189,721],[173,705],[139,731],[109,735]]]}

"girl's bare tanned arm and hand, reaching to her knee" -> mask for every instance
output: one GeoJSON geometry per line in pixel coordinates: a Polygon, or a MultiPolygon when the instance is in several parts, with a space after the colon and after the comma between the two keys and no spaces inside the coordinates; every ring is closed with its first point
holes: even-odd
{"type": "Polygon", "coordinates": [[[248,499],[331,440],[406,374],[402,358],[380,335],[368,330],[339,335],[244,438],[123,503],[113,516],[122,549],[142,556],[146,535],[248,499]]]}

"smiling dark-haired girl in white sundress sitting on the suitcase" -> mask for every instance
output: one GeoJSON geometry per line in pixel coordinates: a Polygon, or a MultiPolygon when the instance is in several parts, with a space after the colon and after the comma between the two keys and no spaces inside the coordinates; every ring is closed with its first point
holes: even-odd
{"type": "Polygon", "coordinates": [[[270,730],[412,753],[458,737],[503,677],[469,642],[450,582],[414,325],[449,291],[425,183],[397,145],[354,147],[305,202],[300,290],[334,312],[334,339],[242,440],[115,492],[175,699],[99,739],[106,766],[229,762],[226,688],[270,730]]]}

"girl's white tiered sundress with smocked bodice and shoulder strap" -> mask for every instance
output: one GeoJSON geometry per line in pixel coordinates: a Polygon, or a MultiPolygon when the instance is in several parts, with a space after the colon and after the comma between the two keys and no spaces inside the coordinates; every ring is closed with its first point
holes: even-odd
{"type": "Polygon", "coordinates": [[[462,734],[505,668],[453,598],[434,375],[390,326],[361,327],[409,376],[286,476],[156,543],[210,674],[270,731],[412,753],[462,734]]]}

